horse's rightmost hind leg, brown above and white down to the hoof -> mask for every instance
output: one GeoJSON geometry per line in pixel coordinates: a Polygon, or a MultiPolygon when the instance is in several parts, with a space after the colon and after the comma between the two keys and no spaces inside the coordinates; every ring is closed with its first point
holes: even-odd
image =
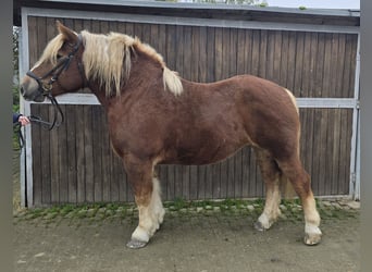
{"type": "Polygon", "coordinates": [[[278,166],[294,186],[301,199],[305,215],[305,244],[317,245],[321,240],[322,232],[319,228],[320,217],[315,206],[315,199],[310,187],[310,176],[302,168],[298,156],[280,160],[278,166]]]}

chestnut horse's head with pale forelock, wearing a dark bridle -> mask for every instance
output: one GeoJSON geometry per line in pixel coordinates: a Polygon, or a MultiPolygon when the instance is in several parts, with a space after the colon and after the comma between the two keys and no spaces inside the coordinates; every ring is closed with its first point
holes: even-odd
{"type": "Polygon", "coordinates": [[[42,102],[46,96],[58,96],[84,87],[82,37],[57,22],[59,35],[49,41],[41,58],[27,72],[21,85],[26,100],[42,102]]]}

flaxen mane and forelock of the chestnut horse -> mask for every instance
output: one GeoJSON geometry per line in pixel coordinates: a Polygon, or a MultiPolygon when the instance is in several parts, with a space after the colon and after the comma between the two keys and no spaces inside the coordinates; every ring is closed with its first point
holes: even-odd
{"type": "MultiPolygon", "coordinates": [[[[91,34],[87,30],[82,32],[82,37],[85,47],[83,64],[86,77],[97,79],[104,88],[107,96],[120,96],[121,87],[128,81],[132,67],[131,52],[134,51],[134,47],[139,48],[161,64],[164,89],[175,96],[183,92],[177,74],[166,67],[163,58],[152,47],[142,44],[138,38],[119,33],[91,34]]],[[[35,67],[45,61],[50,61],[52,65],[55,65],[58,51],[62,45],[63,35],[59,34],[48,44],[35,67]]]]}

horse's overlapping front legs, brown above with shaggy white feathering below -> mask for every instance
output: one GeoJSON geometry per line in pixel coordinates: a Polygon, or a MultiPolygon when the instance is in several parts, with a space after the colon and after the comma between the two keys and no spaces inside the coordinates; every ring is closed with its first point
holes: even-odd
{"type": "Polygon", "coordinates": [[[124,165],[138,207],[138,226],[126,246],[136,249],[147,245],[163,222],[165,211],[153,163],[131,157],[124,159],[124,165]]]}

